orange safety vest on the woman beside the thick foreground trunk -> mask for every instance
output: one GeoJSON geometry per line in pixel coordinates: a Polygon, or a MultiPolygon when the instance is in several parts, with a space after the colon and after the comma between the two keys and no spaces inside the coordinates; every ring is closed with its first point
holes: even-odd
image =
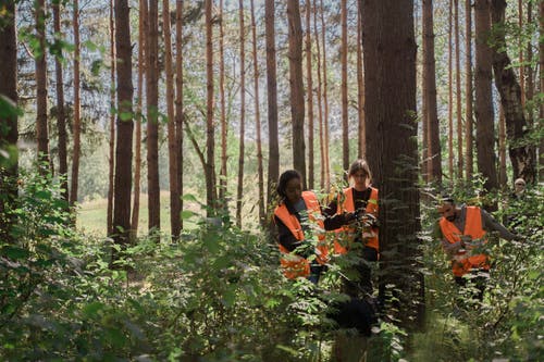
{"type": "MultiPolygon", "coordinates": [[[[337,213],[343,213],[344,211],[354,212],[355,211],[355,201],[354,201],[354,192],[353,188],[348,187],[344,189],[344,202],[341,205],[338,202],[337,213]]],[[[367,208],[364,211],[369,214],[372,214],[378,217],[378,189],[371,187],[370,197],[367,202],[367,208]]],[[[354,228],[346,225],[338,229],[336,229],[337,234],[344,233],[347,235],[351,234],[351,237],[348,239],[353,239],[354,228]]],[[[364,240],[364,246],[374,248],[376,251],[380,251],[380,242],[378,239],[378,227],[371,227],[369,230],[361,230],[362,240],[364,240]]],[[[343,245],[338,241],[338,238],[334,240],[334,252],[337,254],[345,254],[349,249],[349,245],[343,245]]]]}

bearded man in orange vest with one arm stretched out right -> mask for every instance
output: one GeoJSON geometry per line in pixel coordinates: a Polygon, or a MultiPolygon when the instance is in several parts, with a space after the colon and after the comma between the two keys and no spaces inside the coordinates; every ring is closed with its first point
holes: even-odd
{"type": "Polygon", "coordinates": [[[478,288],[479,300],[482,300],[485,285],[490,276],[489,257],[481,251],[487,242],[487,233],[496,232],[506,240],[519,239],[496,222],[492,215],[479,207],[456,205],[450,197],[441,200],[438,207],[441,219],[436,237],[452,260],[452,270],[457,285],[467,286],[467,275],[471,274],[471,283],[478,288]]]}

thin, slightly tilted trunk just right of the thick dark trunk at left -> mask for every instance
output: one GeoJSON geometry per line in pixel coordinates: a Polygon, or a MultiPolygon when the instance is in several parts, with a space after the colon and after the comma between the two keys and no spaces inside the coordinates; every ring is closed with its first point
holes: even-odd
{"type": "Polygon", "coordinates": [[[136,103],[136,130],[134,140],[134,197],[132,214],[132,239],[138,236],[139,227],[139,203],[140,203],[140,183],[141,183],[141,116],[144,114],[144,76],[147,68],[147,0],[139,0],[138,10],[138,93],[136,103]]]}

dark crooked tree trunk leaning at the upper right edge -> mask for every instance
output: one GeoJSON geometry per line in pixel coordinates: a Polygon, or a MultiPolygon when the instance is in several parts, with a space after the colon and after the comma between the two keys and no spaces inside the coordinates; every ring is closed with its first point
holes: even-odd
{"type": "Polygon", "coordinates": [[[522,177],[527,183],[534,183],[536,166],[530,145],[523,145],[528,135],[527,120],[521,104],[521,89],[511,68],[506,49],[504,20],[506,1],[492,0],[492,22],[495,27],[493,43],[493,71],[495,84],[500,95],[500,104],[505,112],[506,134],[509,140],[508,153],[512,164],[514,177],[522,177]],[[521,143],[521,145],[520,145],[521,143]]]}

